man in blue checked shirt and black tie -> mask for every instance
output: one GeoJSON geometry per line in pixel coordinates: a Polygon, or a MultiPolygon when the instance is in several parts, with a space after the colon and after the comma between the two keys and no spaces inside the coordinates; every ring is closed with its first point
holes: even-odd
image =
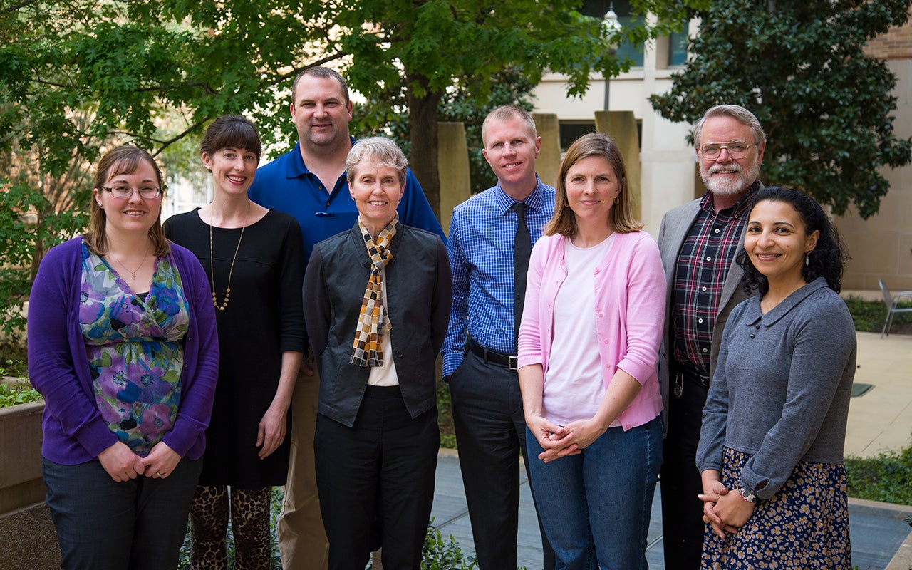
{"type": "MultiPolygon", "coordinates": [[[[453,210],[447,243],[453,304],[442,350],[443,377],[450,383],[478,565],[481,570],[514,570],[520,451],[526,456],[516,371],[514,245],[527,255],[542,235],[554,213],[554,188],[535,174],[542,140],[525,109],[494,109],[484,119],[482,140],[497,185],[453,210]],[[528,233],[520,226],[521,216],[528,233]]],[[[526,266],[527,259],[520,264],[521,291],[526,266]]],[[[542,543],[544,568],[551,570],[554,551],[544,534],[542,543]]]]}

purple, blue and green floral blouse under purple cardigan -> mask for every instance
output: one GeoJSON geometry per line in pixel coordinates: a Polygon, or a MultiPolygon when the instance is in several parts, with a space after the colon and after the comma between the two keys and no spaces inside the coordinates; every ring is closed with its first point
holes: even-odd
{"type": "Polygon", "coordinates": [[[79,326],[95,401],[118,439],[146,455],[174,425],[181,404],[183,337],[190,306],[170,256],[156,260],[145,298],[82,244],[79,326]]]}

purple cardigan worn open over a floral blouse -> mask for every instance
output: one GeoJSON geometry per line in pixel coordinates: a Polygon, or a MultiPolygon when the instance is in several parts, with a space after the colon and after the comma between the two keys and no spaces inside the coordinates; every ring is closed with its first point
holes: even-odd
{"type": "MultiPolygon", "coordinates": [[[[95,403],[86,347],[79,329],[82,237],[57,245],[38,267],[28,304],[28,375],[45,397],[41,454],[76,465],[117,442],[95,403]]],[[[219,343],[209,280],[196,257],[171,244],[190,305],[184,337],[181,407],[162,441],[181,457],[199,459],[219,372],[219,343]]]]}

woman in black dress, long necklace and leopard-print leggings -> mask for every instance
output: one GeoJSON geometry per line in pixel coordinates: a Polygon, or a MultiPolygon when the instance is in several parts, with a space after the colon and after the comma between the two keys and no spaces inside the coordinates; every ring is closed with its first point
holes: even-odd
{"type": "Polygon", "coordinates": [[[202,140],[212,202],[165,223],[209,275],[222,351],[191,510],[193,568],[227,568],[229,503],[236,567],[270,566],[270,495],[288,469],[288,405],[305,347],[304,255],[295,219],[247,197],[260,152],[250,120],[215,119],[202,140]]]}

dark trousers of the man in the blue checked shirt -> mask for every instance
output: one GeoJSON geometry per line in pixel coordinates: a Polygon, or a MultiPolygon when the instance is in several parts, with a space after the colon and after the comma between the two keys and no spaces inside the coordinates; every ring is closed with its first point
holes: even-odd
{"type": "MultiPolygon", "coordinates": [[[[480,570],[515,570],[520,452],[528,458],[519,376],[515,370],[484,362],[470,352],[453,372],[450,392],[478,566],[480,570]]],[[[528,463],[527,459],[527,477],[528,463]]],[[[534,498],[534,488],[532,491],[534,498]]],[[[554,570],[554,550],[544,537],[540,519],[539,532],[544,570],[554,570]]]]}

